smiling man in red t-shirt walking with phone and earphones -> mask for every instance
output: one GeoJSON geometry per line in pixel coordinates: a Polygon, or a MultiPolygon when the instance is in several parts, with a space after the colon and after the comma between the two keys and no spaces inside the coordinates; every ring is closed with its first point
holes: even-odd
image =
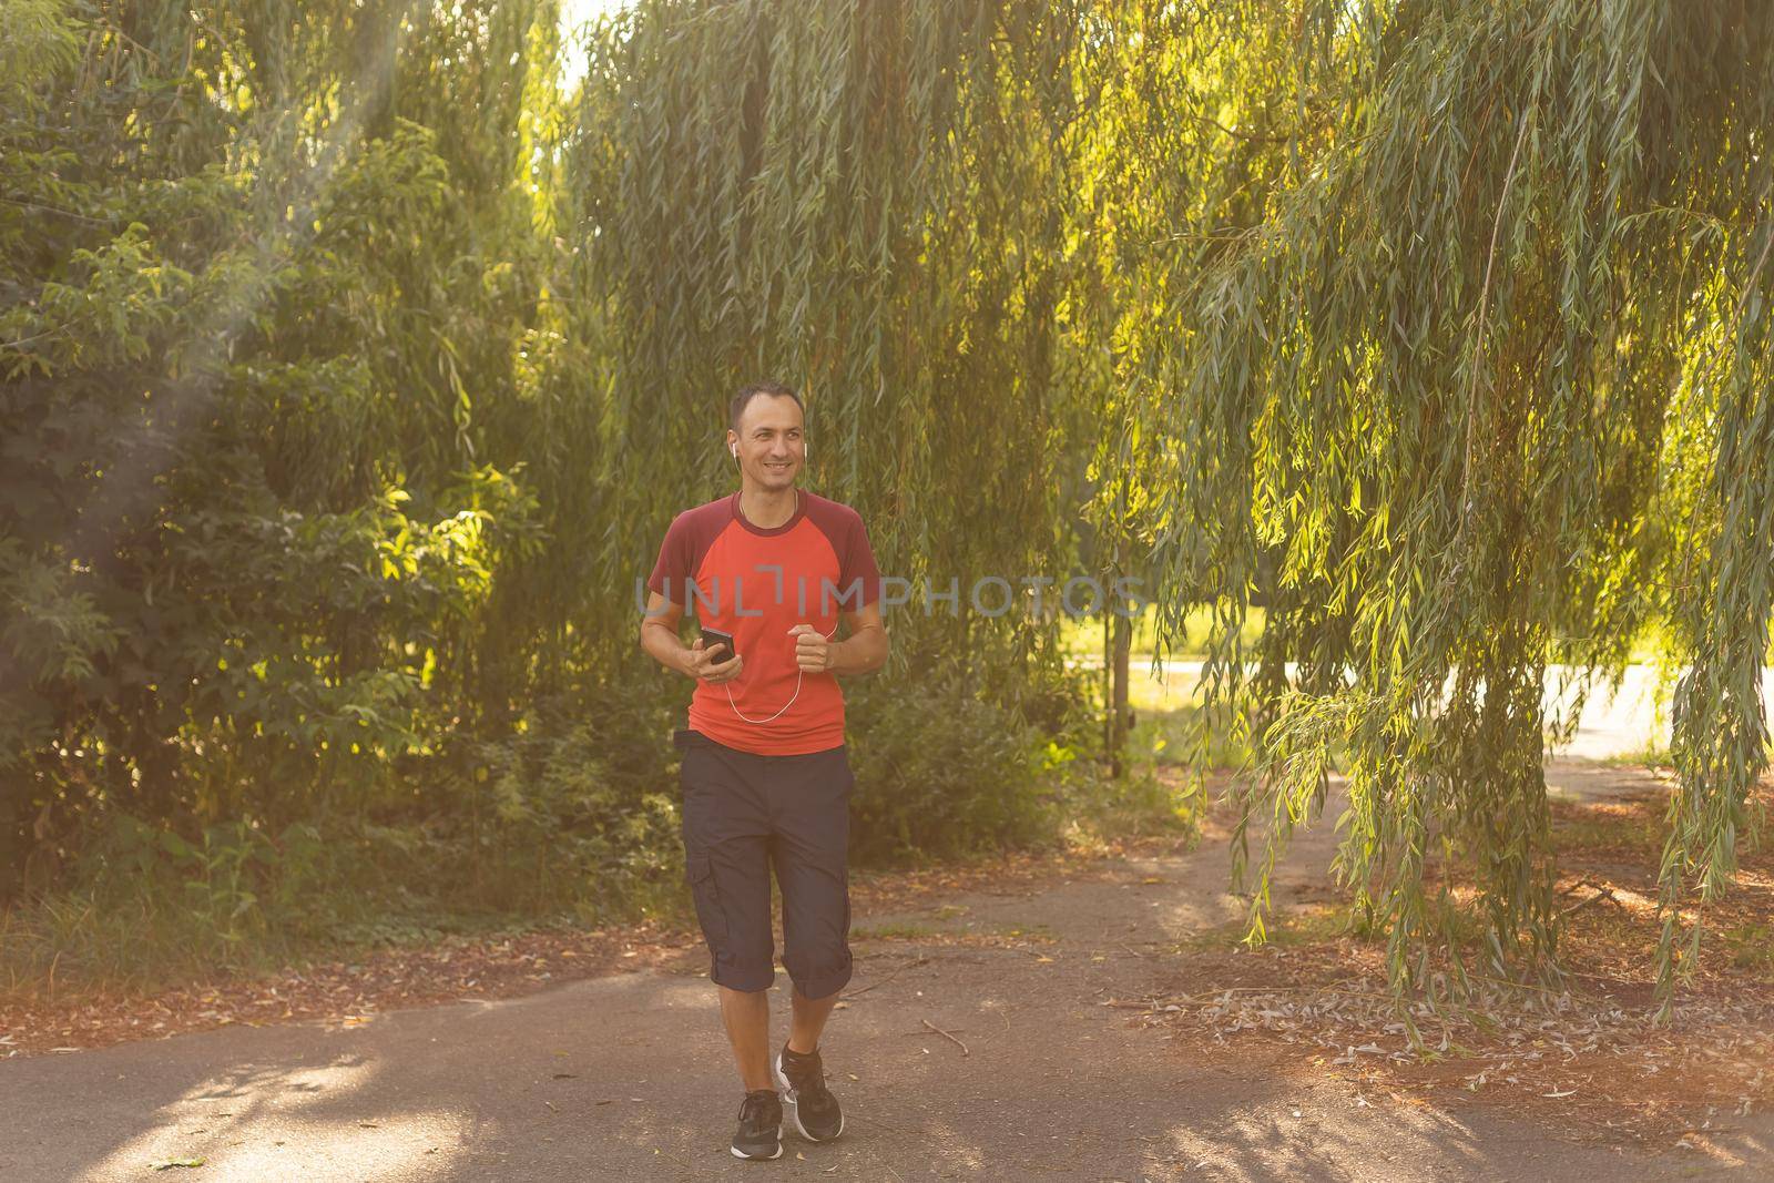
{"type": "Polygon", "coordinates": [[[800,396],[765,381],[727,408],[740,490],[678,514],[648,580],[640,646],[695,679],[683,748],[683,844],[710,977],[745,1100],[738,1158],[782,1153],[782,1100],[814,1142],[843,1109],[825,1084],[820,1034],[850,981],[850,759],[836,676],[887,660],[880,571],[862,518],[795,488],[807,458],[800,396]],[[726,646],[692,646],[692,596],[726,646]],[[846,640],[830,640],[843,614],[846,640]],[[775,981],[770,867],[782,892],[782,965],[793,983],[788,1043],[770,1057],[775,981]],[[777,1089],[782,1089],[782,1096],[777,1089]]]}

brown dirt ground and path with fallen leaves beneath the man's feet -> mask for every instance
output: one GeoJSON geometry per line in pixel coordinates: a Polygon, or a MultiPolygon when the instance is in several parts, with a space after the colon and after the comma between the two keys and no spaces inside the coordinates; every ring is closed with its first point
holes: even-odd
{"type": "MultiPolygon", "coordinates": [[[[154,1000],[0,1007],[5,1179],[1616,1179],[1774,1174],[1774,867],[1747,862],[1676,1022],[1650,1023],[1655,777],[1549,768],[1570,990],[1407,1013],[1338,931],[1329,827],[1236,942],[1196,850],[853,878],[823,1043],[848,1124],[726,1153],[740,1085],[690,931],[387,951],[154,1000]],[[1646,866],[1648,860],[1648,866],[1646,866]]],[[[1224,819],[1219,819],[1222,823],[1224,819]]],[[[1219,825],[1217,823],[1217,825],[1219,825]]],[[[781,947],[781,938],[779,938],[781,947]]],[[[773,991],[786,1030],[786,974],[773,991]]],[[[781,1034],[781,1032],[779,1032],[781,1034]]]]}

